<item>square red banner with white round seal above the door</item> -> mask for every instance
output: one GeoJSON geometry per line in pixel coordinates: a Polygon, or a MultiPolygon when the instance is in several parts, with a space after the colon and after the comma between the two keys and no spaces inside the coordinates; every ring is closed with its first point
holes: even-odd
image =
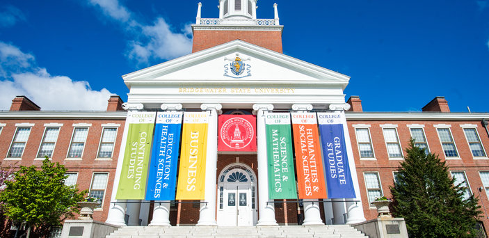
{"type": "Polygon", "coordinates": [[[220,115],[218,151],[257,151],[256,125],[256,116],[220,115]]]}

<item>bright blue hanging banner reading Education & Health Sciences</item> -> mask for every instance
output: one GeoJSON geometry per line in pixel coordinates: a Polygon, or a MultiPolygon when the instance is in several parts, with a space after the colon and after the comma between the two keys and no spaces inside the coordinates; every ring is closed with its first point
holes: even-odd
{"type": "Polygon", "coordinates": [[[175,200],[182,112],[157,114],[146,200],[175,200]]]}

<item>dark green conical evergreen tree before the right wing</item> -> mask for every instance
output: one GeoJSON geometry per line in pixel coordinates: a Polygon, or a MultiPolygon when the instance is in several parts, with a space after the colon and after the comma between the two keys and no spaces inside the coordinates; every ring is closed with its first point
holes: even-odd
{"type": "Polygon", "coordinates": [[[464,187],[455,185],[449,168],[435,154],[410,142],[390,187],[394,216],[406,219],[410,237],[474,237],[482,213],[478,199],[465,199],[464,187]]]}

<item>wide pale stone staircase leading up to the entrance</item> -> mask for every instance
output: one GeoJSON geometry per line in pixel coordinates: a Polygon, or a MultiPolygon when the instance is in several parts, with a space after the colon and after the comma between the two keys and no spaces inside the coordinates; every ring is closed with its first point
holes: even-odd
{"type": "Polygon", "coordinates": [[[127,226],[106,238],[360,238],[367,237],[350,225],[277,226],[127,226]]]}

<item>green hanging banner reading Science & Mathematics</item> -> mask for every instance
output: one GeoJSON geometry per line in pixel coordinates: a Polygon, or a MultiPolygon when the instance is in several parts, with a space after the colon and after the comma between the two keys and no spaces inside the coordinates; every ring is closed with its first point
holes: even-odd
{"type": "Polygon", "coordinates": [[[268,199],[296,199],[289,113],[266,114],[268,199]]]}

